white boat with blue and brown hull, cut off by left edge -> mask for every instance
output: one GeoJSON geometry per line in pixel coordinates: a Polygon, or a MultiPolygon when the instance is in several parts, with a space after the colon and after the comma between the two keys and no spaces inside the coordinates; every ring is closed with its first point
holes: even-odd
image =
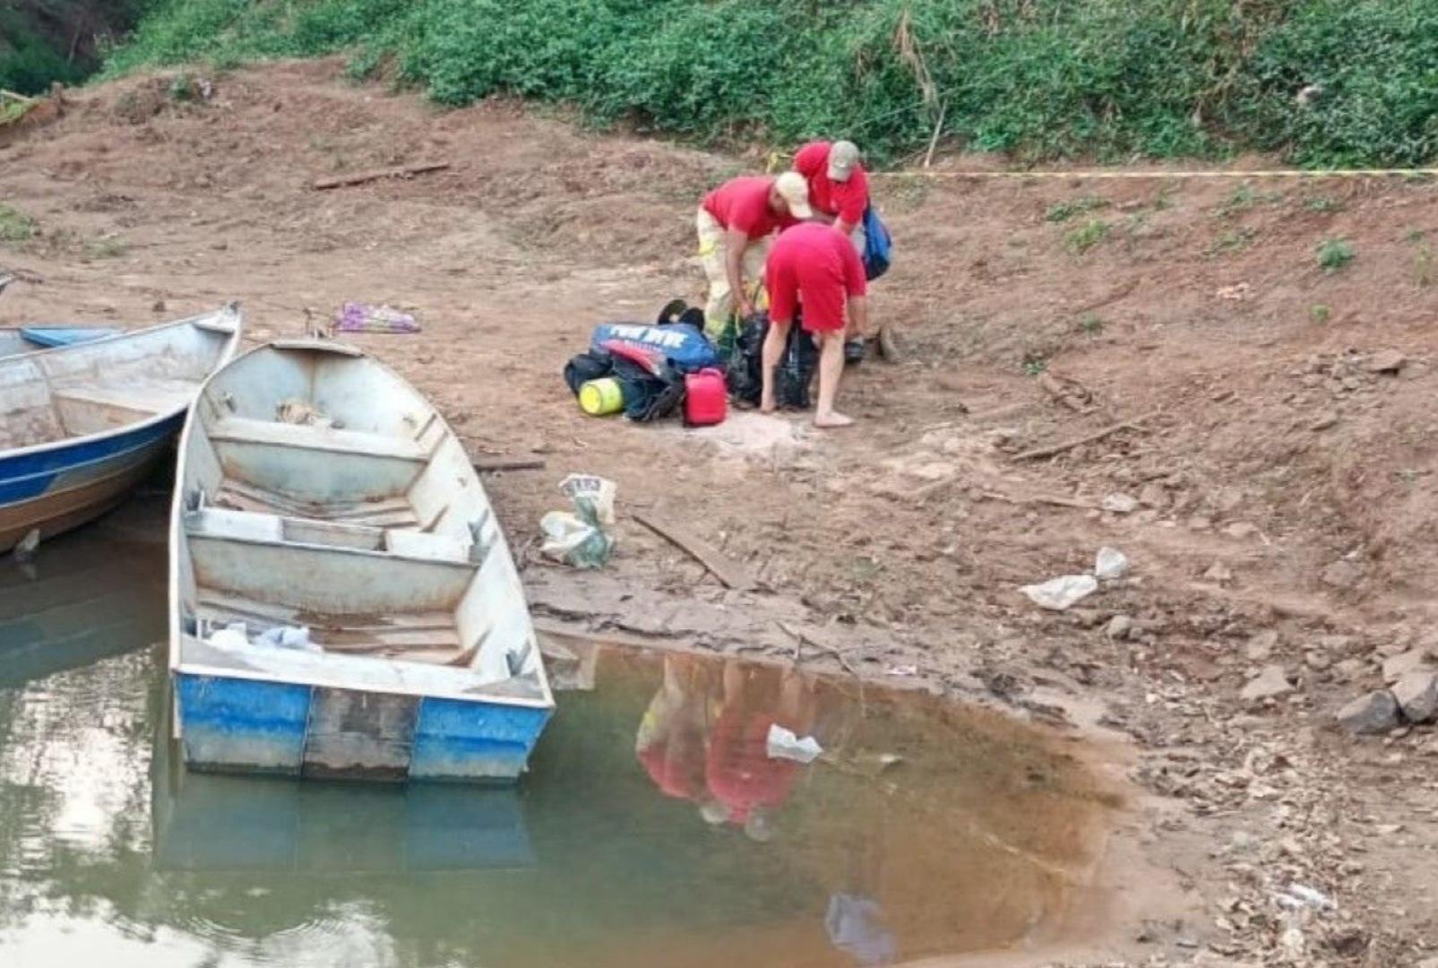
{"type": "Polygon", "coordinates": [[[239,339],[239,311],[224,308],[52,350],[23,341],[29,352],[0,355],[0,552],[124,501],[239,339]]]}

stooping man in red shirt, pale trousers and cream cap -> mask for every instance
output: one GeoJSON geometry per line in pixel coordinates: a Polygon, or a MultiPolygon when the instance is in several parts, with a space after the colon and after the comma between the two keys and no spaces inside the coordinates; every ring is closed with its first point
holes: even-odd
{"type": "Polygon", "coordinates": [[[764,266],[764,239],[812,214],[808,186],[794,171],[732,178],[705,196],[696,227],[709,278],[705,332],[710,338],[723,332],[735,306],[741,316],[754,314],[745,279],[756,279],[764,266]]]}

